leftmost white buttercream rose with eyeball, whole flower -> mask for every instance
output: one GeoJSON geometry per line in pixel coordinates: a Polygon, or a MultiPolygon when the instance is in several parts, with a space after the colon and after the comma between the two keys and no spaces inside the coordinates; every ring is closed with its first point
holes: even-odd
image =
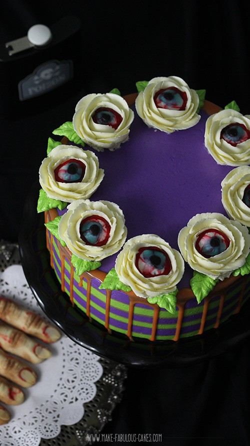
{"type": "Polygon", "coordinates": [[[63,144],[50,151],[39,169],[40,185],[46,194],[66,202],[89,198],[103,176],[93,152],[63,144]]]}

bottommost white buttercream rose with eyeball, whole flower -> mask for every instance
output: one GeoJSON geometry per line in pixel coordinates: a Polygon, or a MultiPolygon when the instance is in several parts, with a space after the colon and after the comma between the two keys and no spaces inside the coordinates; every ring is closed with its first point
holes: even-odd
{"type": "Polygon", "coordinates": [[[155,297],[176,290],[184,262],[179,252],[163,239],[145,234],[125,243],[116,258],[115,271],[136,296],[155,297]]]}

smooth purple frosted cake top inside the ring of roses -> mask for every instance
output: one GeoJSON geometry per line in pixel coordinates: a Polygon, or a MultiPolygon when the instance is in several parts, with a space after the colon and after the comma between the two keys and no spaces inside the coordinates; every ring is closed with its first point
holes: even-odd
{"type": "MultiPolygon", "coordinates": [[[[155,234],[178,250],[178,233],[193,215],[226,215],[220,184],[232,167],[218,165],[206,150],[208,115],[203,111],[200,115],[194,127],[167,134],[148,128],[135,112],[129,140],[118,150],[95,152],[105,175],[90,199],[118,204],[125,216],[127,239],[155,234]]],[[[108,272],[115,258],[102,260],[100,269],[108,272]]],[[[178,288],[189,286],[191,276],[185,264],[178,288]]]]}

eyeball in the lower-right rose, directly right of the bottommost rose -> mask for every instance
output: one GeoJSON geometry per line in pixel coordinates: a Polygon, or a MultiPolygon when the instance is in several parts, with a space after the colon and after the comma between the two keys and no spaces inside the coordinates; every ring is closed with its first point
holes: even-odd
{"type": "Polygon", "coordinates": [[[195,243],[196,251],[205,259],[223,253],[230,245],[230,239],[216,229],[205,230],[198,235],[195,243]]]}

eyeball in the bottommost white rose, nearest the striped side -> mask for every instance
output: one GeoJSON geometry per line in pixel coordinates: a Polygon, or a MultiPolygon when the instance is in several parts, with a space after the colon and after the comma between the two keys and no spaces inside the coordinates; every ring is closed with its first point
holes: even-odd
{"type": "Polygon", "coordinates": [[[135,257],[135,266],[145,278],[167,275],[172,269],[168,255],[155,246],[140,248],[135,257]]]}

